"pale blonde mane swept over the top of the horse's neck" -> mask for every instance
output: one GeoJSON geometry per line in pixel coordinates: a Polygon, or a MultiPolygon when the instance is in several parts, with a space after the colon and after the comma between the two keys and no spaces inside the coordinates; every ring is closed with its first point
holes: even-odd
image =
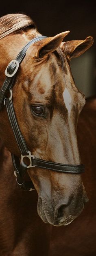
{"type": "Polygon", "coordinates": [[[36,28],[33,20],[26,14],[7,14],[0,18],[0,39],[11,33],[23,30],[31,26],[36,28]]]}

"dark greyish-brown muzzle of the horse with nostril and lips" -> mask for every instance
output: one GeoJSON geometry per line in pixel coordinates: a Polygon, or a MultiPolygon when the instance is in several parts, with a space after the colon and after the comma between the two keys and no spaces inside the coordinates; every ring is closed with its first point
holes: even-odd
{"type": "MultiPolygon", "coordinates": [[[[78,199],[77,199],[78,200],[78,199]]],[[[84,208],[84,201],[60,200],[56,206],[50,200],[39,197],[37,211],[41,219],[45,223],[54,226],[63,226],[70,224],[76,217],[78,217],[84,208]]]]}

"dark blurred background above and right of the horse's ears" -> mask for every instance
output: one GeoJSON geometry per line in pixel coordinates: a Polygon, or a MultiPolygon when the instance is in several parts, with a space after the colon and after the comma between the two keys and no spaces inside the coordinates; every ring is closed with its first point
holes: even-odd
{"type": "Polygon", "coordinates": [[[71,68],[76,86],[85,96],[96,95],[95,1],[0,0],[0,16],[17,12],[31,16],[39,32],[48,37],[70,30],[66,41],[94,38],[94,45],[87,52],[72,59],[71,68]]]}

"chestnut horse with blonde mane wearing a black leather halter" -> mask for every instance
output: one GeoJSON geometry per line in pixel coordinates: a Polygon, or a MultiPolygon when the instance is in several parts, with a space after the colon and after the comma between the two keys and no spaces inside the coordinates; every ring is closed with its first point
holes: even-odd
{"type": "Polygon", "coordinates": [[[88,202],[76,134],[85,96],[75,86],[70,59],[92,46],[93,38],[63,42],[68,33],[43,37],[25,14],[0,18],[1,96],[12,82],[0,109],[2,256],[50,255],[52,226],[75,221],[88,202]],[[22,145],[29,155],[21,154],[22,145]],[[18,170],[35,190],[20,190],[25,183],[18,181],[18,170]]]}

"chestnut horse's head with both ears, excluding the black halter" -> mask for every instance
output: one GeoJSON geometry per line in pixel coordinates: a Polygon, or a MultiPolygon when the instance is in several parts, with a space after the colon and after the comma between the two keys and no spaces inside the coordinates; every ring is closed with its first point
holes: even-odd
{"type": "MultiPolygon", "coordinates": [[[[13,87],[13,105],[22,135],[36,158],[80,165],[76,128],[85,96],[75,86],[70,59],[84,53],[93,39],[63,42],[68,32],[28,48],[13,87]]],[[[11,59],[38,35],[35,29],[28,28],[0,40],[2,81],[11,59]]],[[[9,151],[20,157],[5,107],[0,121],[0,137],[9,151]]],[[[37,190],[37,210],[44,222],[67,225],[80,215],[88,200],[81,174],[36,167],[28,169],[28,174],[37,190]]]]}

